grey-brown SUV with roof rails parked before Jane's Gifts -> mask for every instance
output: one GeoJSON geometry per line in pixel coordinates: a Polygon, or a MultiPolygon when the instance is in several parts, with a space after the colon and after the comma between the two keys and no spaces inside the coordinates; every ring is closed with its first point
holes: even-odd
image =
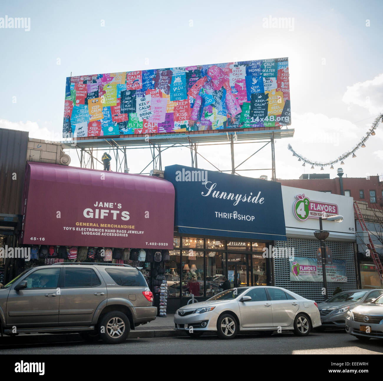
{"type": "Polygon", "coordinates": [[[24,271],[0,288],[3,334],[73,333],[121,343],[154,320],[157,307],[139,268],[106,263],[55,263],[24,271]]]}

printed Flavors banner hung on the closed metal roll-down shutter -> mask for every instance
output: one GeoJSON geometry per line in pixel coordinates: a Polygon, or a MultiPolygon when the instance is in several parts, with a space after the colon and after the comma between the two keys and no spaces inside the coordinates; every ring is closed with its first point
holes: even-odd
{"type": "MultiPolygon", "coordinates": [[[[316,258],[294,258],[289,261],[290,281],[322,282],[322,266],[316,258]]],[[[334,259],[331,265],[326,265],[327,282],[347,282],[346,261],[334,259]]]]}

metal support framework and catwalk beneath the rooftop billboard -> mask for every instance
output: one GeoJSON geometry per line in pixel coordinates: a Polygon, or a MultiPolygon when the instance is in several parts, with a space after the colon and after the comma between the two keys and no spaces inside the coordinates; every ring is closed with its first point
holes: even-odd
{"type": "MultiPolygon", "coordinates": [[[[102,164],[97,159],[98,151],[110,149],[113,150],[113,155],[116,163],[116,172],[129,172],[128,159],[126,157],[127,150],[132,149],[150,149],[152,160],[141,170],[141,174],[148,167],[152,170],[163,170],[162,168],[162,153],[165,150],[174,147],[186,147],[190,149],[191,167],[198,168],[198,157],[212,165],[219,172],[230,172],[233,175],[240,175],[240,171],[254,170],[271,170],[272,181],[276,180],[275,170],[275,139],[293,137],[294,129],[276,129],[266,131],[228,131],[214,134],[168,134],[142,137],[92,137],[90,139],[75,139],[71,142],[65,142],[65,148],[76,149],[80,160],[80,167],[95,168],[95,161],[102,164]],[[239,144],[262,144],[262,147],[256,149],[249,157],[243,160],[240,164],[235,165],[235,150],[239,144]],[[216,165],[210,162],[206,157],[198,152],[199,147],[205,146],[224,146],[230,145],[231,152],[231,169],[220,170],[216,165]],[[262,149],[270,145],[271,148],[271,168],[251,168],[239,169],[239,167],[259,153],[262,149]]],[[[171,163],[175,164],[175,163],[171,163]]]]}

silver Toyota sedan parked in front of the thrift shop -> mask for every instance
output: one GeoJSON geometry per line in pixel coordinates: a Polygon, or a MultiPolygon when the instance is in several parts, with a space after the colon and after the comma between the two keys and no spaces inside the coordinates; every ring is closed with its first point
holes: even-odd
{"type": "Polygon", "coordinates": [[[206,331],[219,338],[234,338],[238,331],[260,331],[263,335],[292,330],[307,336],[321,325],[316,303],[280,287],[232,288],[199,303],[189,304],[174,315],[175,330],[191,337],[206,331]]]}

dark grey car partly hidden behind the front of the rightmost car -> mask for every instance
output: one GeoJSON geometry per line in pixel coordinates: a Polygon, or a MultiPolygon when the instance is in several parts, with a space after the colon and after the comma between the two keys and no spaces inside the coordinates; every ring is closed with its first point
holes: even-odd
{"type": "Polygon", "coordinates": [[[354,289],[342,291],[326,302],[318,303],[322,325],[317,330],[326,328],[344,328],[347,312],[359,304],[368,303],[383,294],[383,289],[354,289]]]}

